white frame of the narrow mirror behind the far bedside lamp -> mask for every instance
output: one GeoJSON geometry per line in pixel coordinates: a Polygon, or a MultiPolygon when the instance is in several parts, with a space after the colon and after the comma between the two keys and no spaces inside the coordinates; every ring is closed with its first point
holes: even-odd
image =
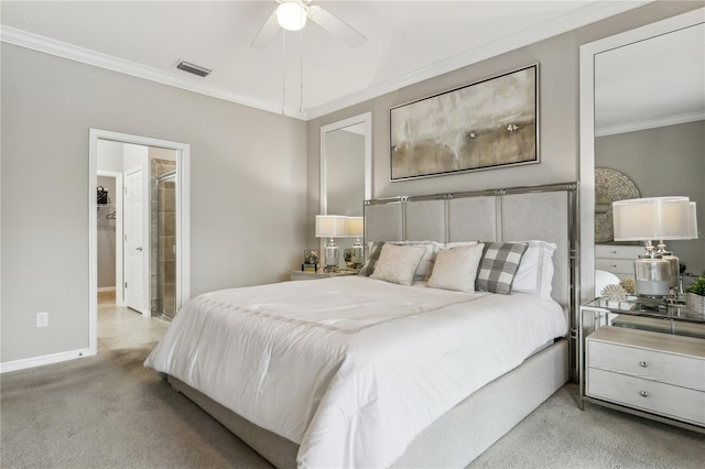
{"type": "MultiPolygon", "coordinates": [[[[327,150],[326,150],[326,134],[336,130],[345,129],[346,127],[362,123],[365,126],[365,187],[364,196],[365,200],[372,198],[372,112],[365,112],[359,116],[354,116],[348,119],[344,119],[337,122],[329,123],[321,127],[321,209],[318,214],[328,214],[328,184],[327,184],[327,150]]],[[[326,240],[321,240],[321,251],[325,251],[326,240]]]]}

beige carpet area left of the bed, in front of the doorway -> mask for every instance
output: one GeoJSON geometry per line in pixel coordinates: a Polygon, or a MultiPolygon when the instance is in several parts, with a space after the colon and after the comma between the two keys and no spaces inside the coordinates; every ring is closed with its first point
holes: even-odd
{"type": "Polygon", "coordinates": [[[269,467],[163,380],[148,349],[6,373],[2,468],[269,467]]]}

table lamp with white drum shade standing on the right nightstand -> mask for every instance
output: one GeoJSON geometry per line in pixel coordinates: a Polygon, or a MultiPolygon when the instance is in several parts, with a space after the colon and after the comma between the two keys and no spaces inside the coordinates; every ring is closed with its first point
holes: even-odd
{"type": "Polygon", "coordinates": [[[662,244],[664,240],[691,239],[691,218],[687,197],[648,197],[612,203],[615,241],[646,241],[647,252],[634,261],[634,292],[638,296],[669,296],[671,287],[677,285],[677,258],[668,255],[664,259],[663,253],[654,251],[652,240],[660,240],[662,244]]]}

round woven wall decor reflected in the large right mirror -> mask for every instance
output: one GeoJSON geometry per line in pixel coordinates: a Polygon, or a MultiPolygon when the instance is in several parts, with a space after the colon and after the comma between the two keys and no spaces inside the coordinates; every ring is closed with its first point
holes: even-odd
{"type": "Polygon", "coordinates": [[[639,198],[637,185],[619,171],[595,168],[595,242],[614,241],[612,201],[639,198]]]}

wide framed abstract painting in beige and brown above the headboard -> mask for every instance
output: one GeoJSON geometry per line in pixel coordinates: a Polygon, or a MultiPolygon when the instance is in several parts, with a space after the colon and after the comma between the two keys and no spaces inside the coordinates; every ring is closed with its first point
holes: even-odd
{"type": "Polygon", "coordinates": [[[540,163],[539,64],[390,109],[390,181],[540,163]]]}

